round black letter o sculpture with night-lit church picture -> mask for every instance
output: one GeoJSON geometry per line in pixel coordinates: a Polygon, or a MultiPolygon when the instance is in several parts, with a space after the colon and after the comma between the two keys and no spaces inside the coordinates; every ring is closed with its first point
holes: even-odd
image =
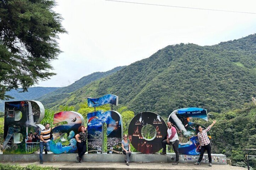
{"type": "Polygon", "coordinates": [[[129,140],[136,150],[146,154],[155,153],[162,149],[162,140],[167,135],[167,126],[158,114],[142,112],[131,120],[128,134],[129,140]],[[143,137],[141,130],[145,125],[152,125],[155,128],[155,135],[152,139],[143,137]]]}

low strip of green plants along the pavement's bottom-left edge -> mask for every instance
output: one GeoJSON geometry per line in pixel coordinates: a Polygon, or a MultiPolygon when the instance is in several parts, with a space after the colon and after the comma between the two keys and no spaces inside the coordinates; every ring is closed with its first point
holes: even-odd
{"type": "Polygon", "coordinates": [[[59,168],[53,168],[52,166],[38,166],[38,165],[27,165],[27,166],[20,166],[20,165],[9,165],[9,164],[1,164],[1,170],[59,170],[59,168]]]}

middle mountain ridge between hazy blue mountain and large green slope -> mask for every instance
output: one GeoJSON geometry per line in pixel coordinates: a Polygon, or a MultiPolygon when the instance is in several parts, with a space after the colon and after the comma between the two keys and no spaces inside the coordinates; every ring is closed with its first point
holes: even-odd
{"type": "Polygon", "coordinates": [[[122,68],[125,68],[125,66],[119,66],[106,72],[95,72],[88,76],[84,76],[81,79],[75,81],[73,84],[67,87],[59,88],[56,91],[41,96],[37,98],[37,100],[40,101],[46,108],[53,107],[55,105],[58,105],[63,99],[70,97],[72,92],[78,90],[79,88],[84,87],[85,85],[95,80],[109,76],[121,70],[122,68]]]}

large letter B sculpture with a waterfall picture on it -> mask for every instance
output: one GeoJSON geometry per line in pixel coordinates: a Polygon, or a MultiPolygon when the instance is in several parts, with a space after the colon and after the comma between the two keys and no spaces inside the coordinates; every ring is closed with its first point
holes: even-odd
{"type": "Polygon", "coordinates": [[[39,101],[5,102],[4,154],[33,153],[39,148],[39,123],[44,107],[39,101]]]}

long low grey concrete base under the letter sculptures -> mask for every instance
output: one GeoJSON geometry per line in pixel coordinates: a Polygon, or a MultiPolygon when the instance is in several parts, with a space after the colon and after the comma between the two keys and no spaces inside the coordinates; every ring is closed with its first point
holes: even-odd
{"type": "MultiPolygon", "coordinates": [[[[48,154],[43,154],[44,162],[75,162],[76,153],[62,153],[53,154],[48,152],[48,154]]],[[[199,155],[180,155],[180,163],[192,163],[196,162],[199,155]]],[[[83,157],[83,162],[124,162],[125,155],[123,154],[85,154],[83,157]]],[[[35,152],[32,154],[0,154],[0,162],[36,162],[39,161],[39,153],[35,152]]],[[[132,153],[130,157],[130,162],[174,162],[175,153],[167,153],[167,155],[155,154],[142,154],[142,153],[132,153]]],[[[208,156],[204,154],[201,163],[208,164],[208,156]]],[[[226,155],[223,154],[212,154],[212,164],[227,164],[226,155]]]]}

